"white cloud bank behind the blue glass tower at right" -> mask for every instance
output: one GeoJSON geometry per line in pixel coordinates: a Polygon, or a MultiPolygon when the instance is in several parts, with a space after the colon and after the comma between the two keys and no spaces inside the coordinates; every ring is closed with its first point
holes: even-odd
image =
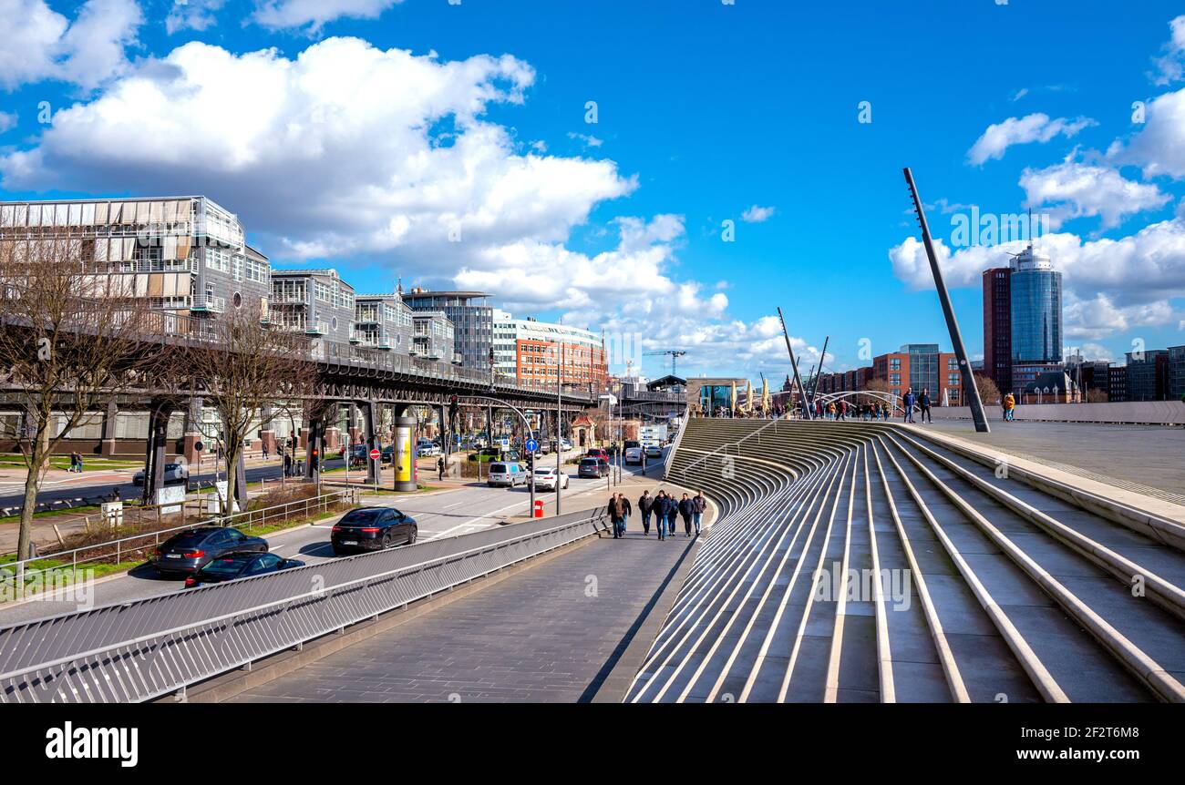
{"type": "MultiPolygon", "coordinates": [[[[950,287],[980,287],[981,272],[1005,266],[1027,242],[975,245],[954,253],[941,240],[935,252],[950,287]]],[[[1173,297],[1185,296],[1185,220],[1144,227],[1120,239],[1083,240],[1072,233],[1040,238],[1039,250],[1063,274],[1065,334],[1100,339],[1139,326],[1168,324],[1179,315],[1173,297]],[[1106,292],[1106,294],[1102,294],[1106,292]]],[[[911,289],[934,287],[925,249],[908,237],[889,251],[893,271],[911,289]]]]}

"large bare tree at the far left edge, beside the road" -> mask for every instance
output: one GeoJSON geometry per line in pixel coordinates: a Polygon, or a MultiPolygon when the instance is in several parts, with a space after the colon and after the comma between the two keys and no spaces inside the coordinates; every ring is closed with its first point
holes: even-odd
{"type": "Polygon", "coordinates": [[[50,457],[71,430],[117,397],[167,375],[161,313],[135,296],[134,275],[94,266],[82,237],[0,238],[0,369],[6,420],[27,474],[17,542],[31,555],[33,513],[50,457]]]}

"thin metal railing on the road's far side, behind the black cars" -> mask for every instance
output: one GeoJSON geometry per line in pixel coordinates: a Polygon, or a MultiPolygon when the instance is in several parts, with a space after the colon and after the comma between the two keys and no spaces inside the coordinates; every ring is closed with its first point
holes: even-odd
{"type": "MultiPolygon", "coordinates": [[[[79,565],[113,558],[113,548],[115,551],[115,564],[120,564],[124,555],[132,555],[137,551],[156,547],[173,534],[184,532],[185,529],[192,529],[198,526],[233,526],[244,528],[251,526],[267,526],[269,517],[271,521],[282,521],[297,513],[308,517],[313,515],[313,513],[326,511],[329,507],[335,504],[357,503],[357,489],[337,490],[328,494],[321,494],[320,496],[310,496],[308,498],[284,502],[283,504],[273,504],[270,507],[244,510],[242,513],[232,513],[225,516],[214,516],[204,521],[191,521],[188,523],[182,523],[181,526],[172,526],[153,532],[141,532],[139,534],[132,534],[116,540],[107,540],[104,542],[84,545],[78,548],[70,548],[69,551],[44,553],[31,559],[18,559],[15,561],[8,561],[0,565],[0,592],[14,591],[17,586],[24,585],[25,583],[38,578],[44,578],[46,574],[65,570],[77,571],[79,565]],[[164,540],[161,539],[161,535],[165,535],[164,540]],[[83,555],[88,552],[94,553],[91,555],[83,555]],[[38,561],[45,560],[53,560],[59,564],[47,567],[32,566],[38,561]]],[[[178,506],[180,506],[180,502],[178,502],[178,506]]],[[[128,508],[128,511],[137,509],[139,508],[128,508]]],[[[103,522],[101,521],[100,525],[103,525],[103,522]]]]}

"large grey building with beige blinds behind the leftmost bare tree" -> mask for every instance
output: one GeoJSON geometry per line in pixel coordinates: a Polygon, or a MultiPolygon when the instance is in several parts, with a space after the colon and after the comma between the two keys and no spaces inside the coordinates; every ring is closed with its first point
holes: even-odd
{"type": "Polygon", "coordinates": [[[0,202],[0,242],[69,238],[81,262],[132,276],[150,308],[209,315],[261,305],[270,289],[265,256],[244,242],[243,225],[207,197],[0,202]]]}

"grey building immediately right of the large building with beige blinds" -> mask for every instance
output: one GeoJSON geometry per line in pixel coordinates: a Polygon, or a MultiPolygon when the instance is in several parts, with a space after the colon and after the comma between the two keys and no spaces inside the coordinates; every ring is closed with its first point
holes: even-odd
{"type": "Polygon", "coordinates": [[[270,310],[276,327],[346,343],[353,332],[354,288],[337,270],[274,270],[270,310]]]}

